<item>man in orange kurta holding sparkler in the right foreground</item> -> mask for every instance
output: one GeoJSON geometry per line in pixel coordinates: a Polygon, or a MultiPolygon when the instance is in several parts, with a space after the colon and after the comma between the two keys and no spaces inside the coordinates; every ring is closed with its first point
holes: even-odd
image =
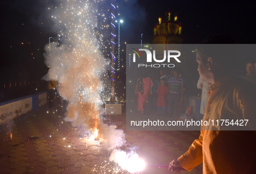
{"type": "Polygon", "coordinates": [[[203,174],[255,173],[256,90],[252,83],[237,78],[230,70],[235,48],[224,47],[230,43],[229,37],[218,35],[197,48],[200,77],[212,84],[203,121],[214,120],[214,124],[201,126],[199,139],[184,155],[171,161],[172,172],[191,171],[203,162],[203,174]],[[225,123],[221,125],[220,120],[225,123]],[[233,124],[227,127],[231,120],[233,124]]]}

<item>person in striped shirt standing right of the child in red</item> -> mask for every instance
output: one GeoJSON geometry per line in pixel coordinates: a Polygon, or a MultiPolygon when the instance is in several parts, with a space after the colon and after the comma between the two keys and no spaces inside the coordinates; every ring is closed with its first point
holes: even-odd
{"type": "Polygon", "coordinates": [[[174,77],[169,79],[168,83],[168,111],[170,116],[174,113],[173,116],[177,117],[178,104],[182,102],[183,98],[183,80],[179,77],[178,70],[174,70],[174,77]]]}

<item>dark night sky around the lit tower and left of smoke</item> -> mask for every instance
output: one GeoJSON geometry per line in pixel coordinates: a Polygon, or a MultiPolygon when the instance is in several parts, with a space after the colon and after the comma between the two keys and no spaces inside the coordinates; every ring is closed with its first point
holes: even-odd
{"type": "MultiPolygon", "coordinates": [[[[60,1],[11,0],[1,3],[1,82],[40,79],[47,68],[43,49],[51,29],[48,6],[60,1]]],[[[103,0],[102,3],[108,3],[103,0]]],[[[150,43],[158,17],[175,13],[182,26],[184,44],[197,44],[212,34],[230,35],[237,44],[256,44],[255,9],[247,1],[221,0],[117,0],[117,12],[124,19],[121,41],[150,43]]],[[[253,57],[252,57],[253,58],[253,57]]]]}

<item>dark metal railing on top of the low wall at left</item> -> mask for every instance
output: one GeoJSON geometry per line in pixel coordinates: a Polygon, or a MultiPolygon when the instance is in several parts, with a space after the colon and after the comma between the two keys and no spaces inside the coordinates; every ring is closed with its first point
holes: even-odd
{"type": "Polygon", "coordinates": [[[0,102],[47,91],[47,84],[48,82],[45,80],[23,80],[2,83],[0,87],[0,102]]]}

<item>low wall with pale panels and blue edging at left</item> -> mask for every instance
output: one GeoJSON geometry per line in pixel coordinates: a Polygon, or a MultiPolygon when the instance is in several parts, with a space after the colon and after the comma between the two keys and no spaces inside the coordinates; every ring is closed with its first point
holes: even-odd
{"type": "Polygon", "coordinates": [[[0,103],[0,124],[47,104],[47,92],[0,103]]]}

